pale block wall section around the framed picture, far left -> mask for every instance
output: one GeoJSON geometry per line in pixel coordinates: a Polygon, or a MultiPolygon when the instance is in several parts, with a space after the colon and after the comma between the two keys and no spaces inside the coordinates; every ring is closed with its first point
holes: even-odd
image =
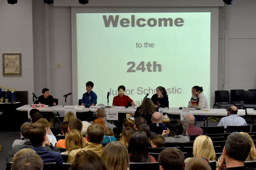
{"type": "MultiPolygon", "coordinates": [[[[34,91],[32,0],[0,1],[0,85],[34,91]],[[2,53],[22,53],[22,76],[3,76],[2,53]]],[[[30,95],[29,95],[30,96],[30,95]]],[[[32,97],[29,98],[32,102],[32,97]]]]}

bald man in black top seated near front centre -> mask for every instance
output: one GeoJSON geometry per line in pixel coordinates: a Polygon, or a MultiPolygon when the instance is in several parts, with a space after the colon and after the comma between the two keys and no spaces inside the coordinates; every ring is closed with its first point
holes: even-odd
{"type": "Polygon", "coordinates": [[[155,112],[151,117],[152,124],[149,125],[150,131],[156,134],[162,134],[163,130],[167,130],[167,127],[162,123],[162,114],[155,112]]]}

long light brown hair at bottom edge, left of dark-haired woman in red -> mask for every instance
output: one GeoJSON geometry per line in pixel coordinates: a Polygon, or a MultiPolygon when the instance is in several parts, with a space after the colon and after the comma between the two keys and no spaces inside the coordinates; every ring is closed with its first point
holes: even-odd
{"type": "Polygon", "coordinates": [[[108,143],[103,148],[100,157],[105,162],[108,170],[129,169],[128,152],[125,146],[119,141],[108,143]]]}

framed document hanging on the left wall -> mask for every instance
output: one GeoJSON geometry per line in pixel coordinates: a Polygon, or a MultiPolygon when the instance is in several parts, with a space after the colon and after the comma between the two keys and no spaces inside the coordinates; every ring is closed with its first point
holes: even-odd
{"type": "Polygon", "coordinates": [[[21,53],[3,53],[3,76],[21,76],[21,53]]]}

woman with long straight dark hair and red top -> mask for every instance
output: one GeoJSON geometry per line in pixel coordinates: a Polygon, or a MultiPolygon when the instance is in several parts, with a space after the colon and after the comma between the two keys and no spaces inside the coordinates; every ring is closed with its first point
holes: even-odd
{"type": "Polygon", "coordinates": [[[148,154],[148,137],[145,132],[135,132],[128,144],[130,162],[156,162],[148,154]]]}

